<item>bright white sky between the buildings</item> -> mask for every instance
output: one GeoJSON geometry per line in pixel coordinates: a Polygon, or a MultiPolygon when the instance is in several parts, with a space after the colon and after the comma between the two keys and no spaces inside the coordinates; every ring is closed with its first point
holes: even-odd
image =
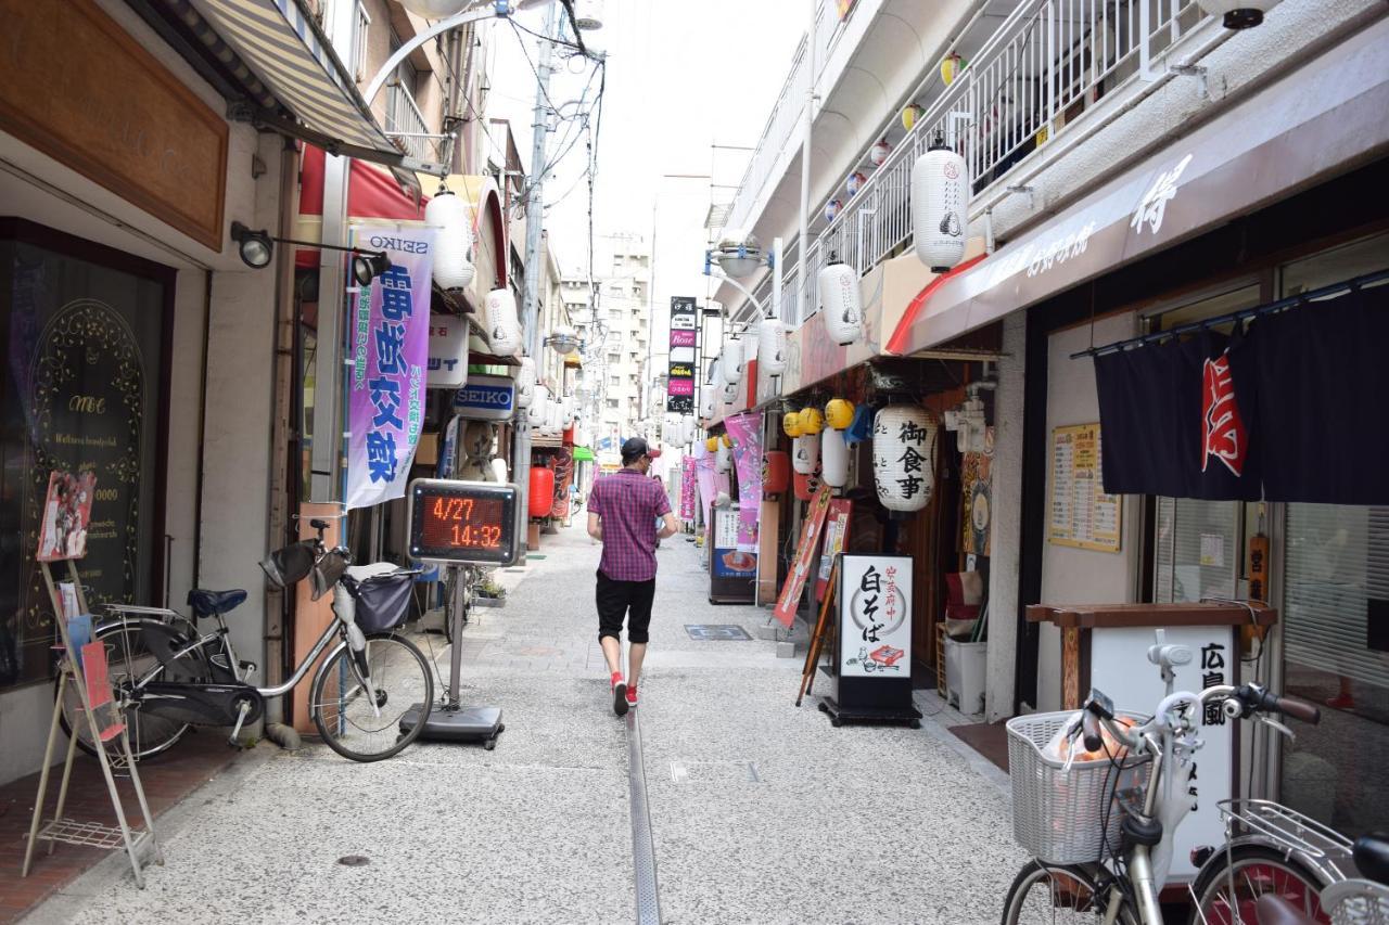
{"type": "MultiPolygon", "coordinates": [[[[608,246],[603,235],[626,232],[650,240],[654,228],[656,331],[665,326],[671,296],[703,299],[707,292],[701,271],[710,194],[724,201],[733,193],[711,190],[710,183],[736,186],[750,154],[711,146],[757,143],[804,33],[806,7],[804,0],[607,0],[603,28],[585,33],[586,43],[608,54],[593,196],[594,272],[601,274],[608,246]]],[[[531,11],[519,21],[539,32],[543,18],[543,11],[531,11]]],[[[535,76],[511,26],[490,28],[489,115],[511,121],[529,169],[535,76]]],[[[536,39],[522,36],[536,60],[536,39]]],[[[550,100],[563,107],[579,97],[588,78],[560,67],[550,100]]],[[[557,135],[550,136],[551,157],[557,135]]],[[[565,272],[586,261],[588,196],[585,183],[574,186],[583,165],[581,139],[546,181],[547,203],[568,193],[546,217],[565,272]]],[[[657,351],[664,350],[657,346],[657,351]]]]}

